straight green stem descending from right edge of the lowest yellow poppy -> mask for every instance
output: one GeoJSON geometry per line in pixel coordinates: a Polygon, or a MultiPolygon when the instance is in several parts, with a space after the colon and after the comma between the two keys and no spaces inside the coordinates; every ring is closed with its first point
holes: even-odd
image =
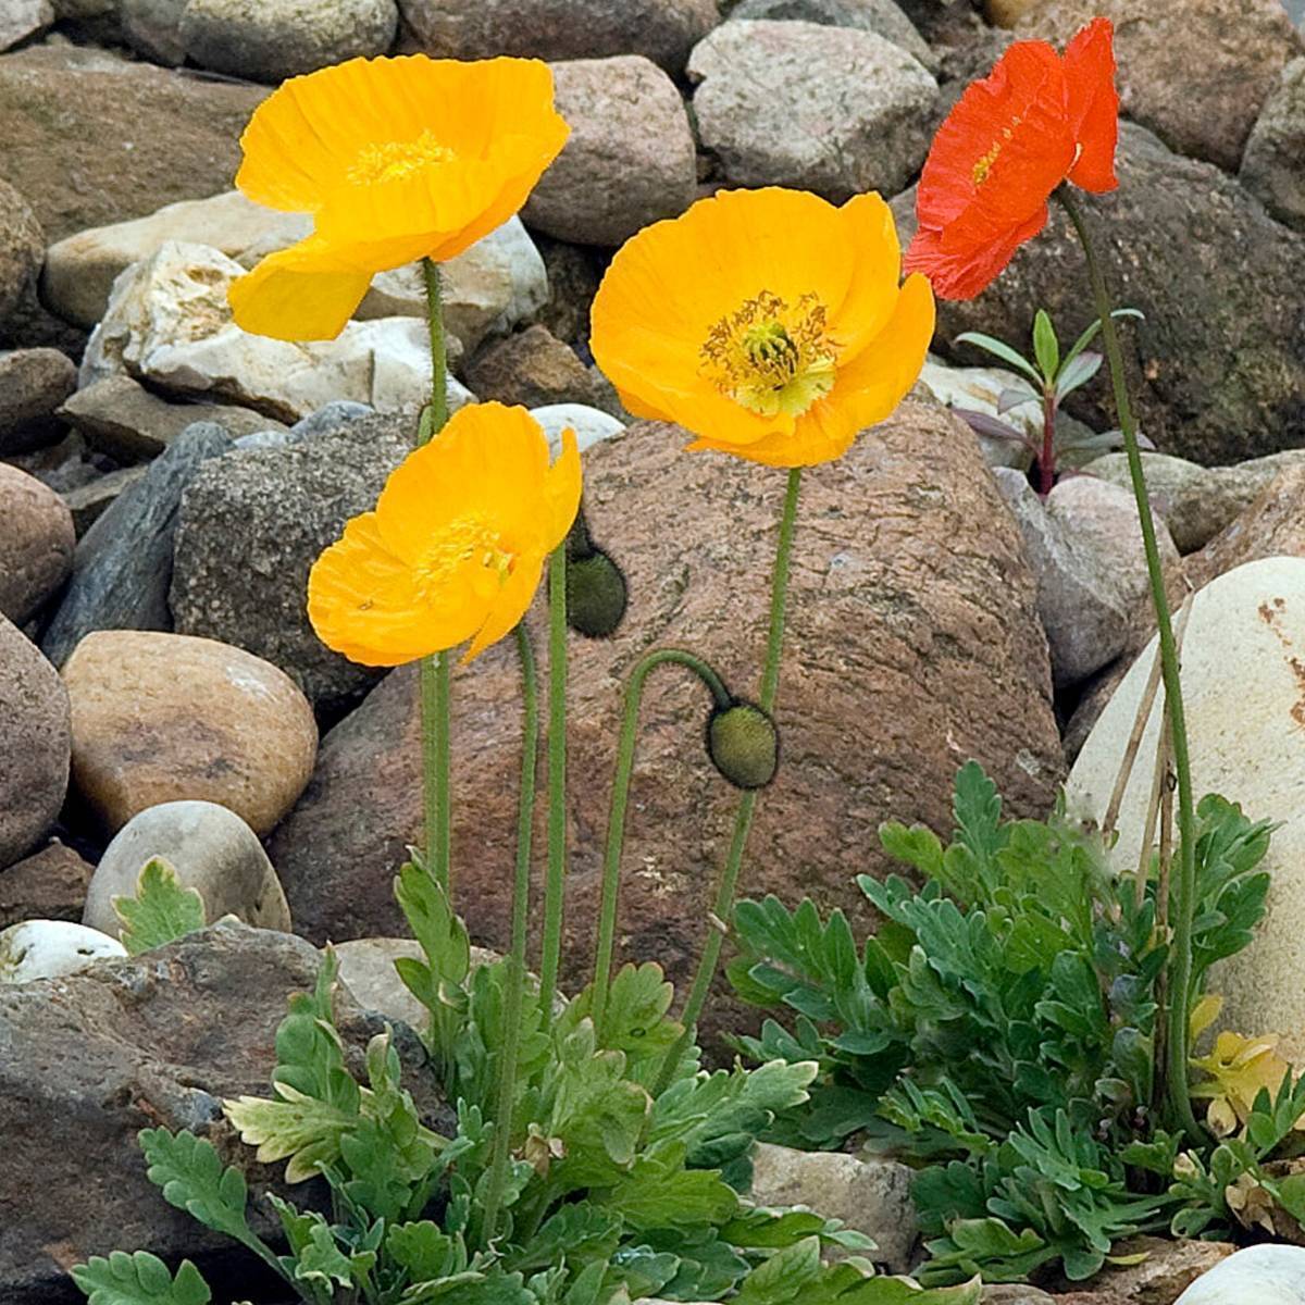
{"type": "Polygon", "coordinates": [[[566,542],[548,560],[548,880],[539,1001],[552,1023],[566,891],[566,542]]]}

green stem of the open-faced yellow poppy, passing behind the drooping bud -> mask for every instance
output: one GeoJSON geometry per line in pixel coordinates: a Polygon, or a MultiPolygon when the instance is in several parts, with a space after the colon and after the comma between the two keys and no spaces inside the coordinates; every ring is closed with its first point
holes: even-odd
{"type": "MultiPolygon", "coordinates": [[[[793,531],[797,525],[797,495],[801,489],[801,467],[792,467],[788,472],[788,487],[784,492],[783,514],[779,518],[779,543],[775,545],[775,573],[770,589],[770,637],[766,641],[766,664],[761,676],[761,709],[767,715],[774,713],[775,694],[779,690],[779,655],[784,646],[788,572],[792,564],[793,531]]],[[[659,1096],[669,1087],[671,1081],[675,1078],[676,1066],[696,1036],[698,1017],[706,1005],[711,980],[716,975],[716,962],[720,959],[724,930],[728,928],[729,916],[733,912],[735,891],[739,886],[739,870],[743,865],[743,853],[748,847],[748,834],[752,831],[752,817],[756,809],[757,791],[750,790],[743,795],[739,803],[733,837],[729,839],[729,853],[726,857],[726,867],[716,886],[716,899],[711,907],[707,940],[702,945],[698,970],[693,976],[693,985],[689,988],[689,996],[680,1015],[684,1032],[680,1034],[676,1044],[667,1052],[666,1060],[662,1062],[662,1070],[652,1090],[654,1096],[659,1096]]]]}

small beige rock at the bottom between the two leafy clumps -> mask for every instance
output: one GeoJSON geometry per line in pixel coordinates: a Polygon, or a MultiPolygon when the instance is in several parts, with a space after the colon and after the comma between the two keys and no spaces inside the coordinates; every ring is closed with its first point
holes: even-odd
{"type": "Polygon", "coordinates": [[[895,1160],[842,1151],[793,1151],[758,1142],[752,1154],[752,1199],[758,1206],[805,1206],[874,1240],[867,1258],[904,1274],[920,1233],[911,1202],[912,1171],[895,1160]]]}

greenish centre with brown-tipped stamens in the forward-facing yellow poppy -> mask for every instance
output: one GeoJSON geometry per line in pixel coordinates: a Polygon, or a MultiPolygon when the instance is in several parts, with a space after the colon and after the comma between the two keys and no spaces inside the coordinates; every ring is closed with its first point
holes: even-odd
{"type": "Polygon", "coordinates": [[[801,416],[834,388],[834,346],[825,305],[812,294],[790,305],[769,290],[711,328],[702,373],[760,416],[801,416]]]}

